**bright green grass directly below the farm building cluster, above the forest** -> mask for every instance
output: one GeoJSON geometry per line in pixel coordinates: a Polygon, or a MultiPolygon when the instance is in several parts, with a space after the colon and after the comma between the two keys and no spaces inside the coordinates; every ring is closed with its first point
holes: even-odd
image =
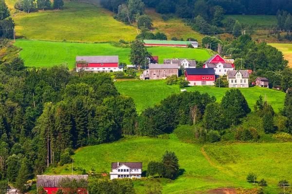
{"type": "MultiPolygon", "coordinates": [[[[181,92],[179,85],[166,85],[165,80],[117,81],[115,82],[115,86],[121,94],[134,98],[139,113],[147,107],[159,103],[169,95],[181,92]]],[[[217,101],[220,101],[229,89],[211,86],[191,86],[186,88],[187,91],[208,93],[211,96],[215,96],[217,101]]],[[[252,110],[260,95],[264,99],[267,99],[269,104],[273,106],[275,112],[278,112],[279,108],[284,106],[285,93],[283,92],[260,87],[239,88],[239,90],[246,98],[252,110]]]]}

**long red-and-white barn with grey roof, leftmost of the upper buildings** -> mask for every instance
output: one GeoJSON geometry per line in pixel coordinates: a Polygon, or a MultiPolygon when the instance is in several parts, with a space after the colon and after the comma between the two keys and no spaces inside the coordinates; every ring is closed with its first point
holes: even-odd
{"type": "Polygon", "coordinates": [[[83,69],[91,72],[123,71],[124,66],[119,66],[119,56],[76,56],[76,71],[83,69]],[[77,64],[83,61],[86,64],[77,64]]]}

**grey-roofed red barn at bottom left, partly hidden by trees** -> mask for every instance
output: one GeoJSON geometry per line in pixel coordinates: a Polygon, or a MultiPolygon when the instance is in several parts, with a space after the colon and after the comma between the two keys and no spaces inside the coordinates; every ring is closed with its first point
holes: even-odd
{"type": "MultiPolygon", "coordinates": [[[[54,194],[57,192],[59,182],[62,178],[70,178],[71,180],[88,180],[88,175],[37,175],[37,188],[42,186],[48,194],[54,194]]],[[[87,193],[84,188],[78,189],[79,194],[87,193]]]]}

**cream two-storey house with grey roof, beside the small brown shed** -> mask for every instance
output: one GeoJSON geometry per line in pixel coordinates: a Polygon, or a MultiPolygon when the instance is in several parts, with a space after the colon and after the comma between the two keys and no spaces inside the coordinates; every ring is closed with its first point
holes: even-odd
{"type": "Polygon", "coordinates": [[[230,88],[248,88],[248,70],[231,70],[227,72],[227,81],[230,88]]]}

